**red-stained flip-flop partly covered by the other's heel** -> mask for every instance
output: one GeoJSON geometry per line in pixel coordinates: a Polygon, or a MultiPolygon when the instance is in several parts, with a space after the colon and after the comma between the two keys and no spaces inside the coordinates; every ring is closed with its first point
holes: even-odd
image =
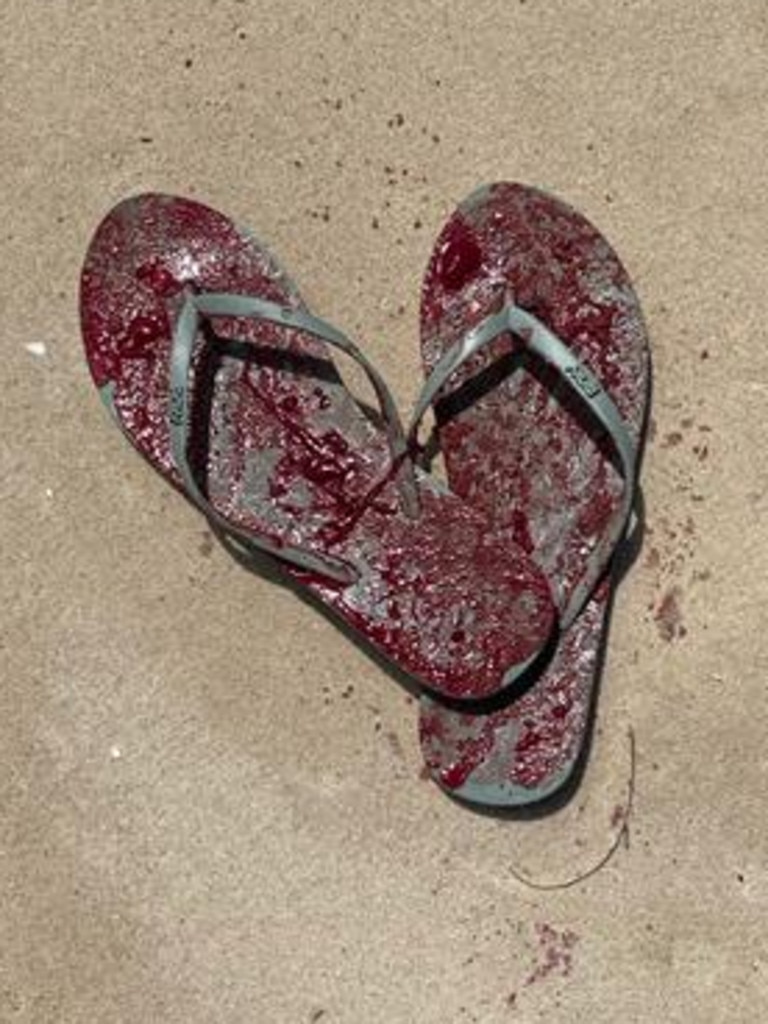
{"type": "Polygon", "coordinates": [[[503,701],[470,714],[424,698],[422,750],[457,797],[530,804],[560,790],[585,750],[647,420],[645,328],[592,224],[543,191],[499,183],[440,233],[421,338],[428,373],[460,367],[435,406],[451,487],[546,572],[561,628],[550,662],[503,701]]]}

